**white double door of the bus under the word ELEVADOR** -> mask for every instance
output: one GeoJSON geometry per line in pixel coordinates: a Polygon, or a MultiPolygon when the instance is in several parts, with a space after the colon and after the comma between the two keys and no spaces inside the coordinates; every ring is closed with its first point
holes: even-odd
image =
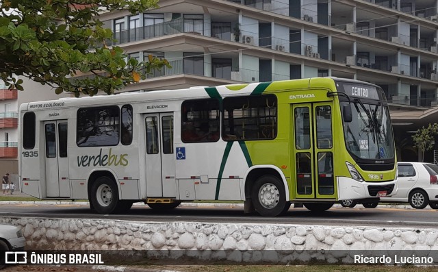
{"type": "Polygon", "coordinates": [[[173,113],[145,114],[147,197],[177,197],[173,113]]]}

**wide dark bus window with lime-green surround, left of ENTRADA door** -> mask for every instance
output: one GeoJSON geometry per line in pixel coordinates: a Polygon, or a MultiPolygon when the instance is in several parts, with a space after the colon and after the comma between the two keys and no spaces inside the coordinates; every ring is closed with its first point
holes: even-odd
{"type": "Polygon", "coordinates": [[[276,137],[276,96],[224,99],[224,140],[268,140],[276,137]]]}

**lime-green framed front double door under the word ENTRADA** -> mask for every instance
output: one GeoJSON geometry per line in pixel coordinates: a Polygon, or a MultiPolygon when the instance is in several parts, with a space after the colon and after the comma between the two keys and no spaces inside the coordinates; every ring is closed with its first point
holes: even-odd
{"type": "Polygon", "coordinates": [[[330,103],[292,106],[296,197],[335,198],[330,103]]]}

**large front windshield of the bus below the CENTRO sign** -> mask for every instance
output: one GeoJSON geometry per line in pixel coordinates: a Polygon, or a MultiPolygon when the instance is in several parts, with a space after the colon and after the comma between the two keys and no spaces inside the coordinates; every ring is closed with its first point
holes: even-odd
{"type": "MultiPolygon", "coordinates": [[[[342,105],[348,102],[342,102],[342,105]]],[[[357,158],[385,160],[394,158],[394,136],[389,109],[383,103],[352,99],[352,122],[344,122],[348,151],[357,158]]]]}

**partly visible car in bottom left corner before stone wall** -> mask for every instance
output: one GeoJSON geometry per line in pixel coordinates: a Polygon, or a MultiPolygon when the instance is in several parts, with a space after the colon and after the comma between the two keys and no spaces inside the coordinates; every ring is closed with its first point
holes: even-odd
{"type": "MultiPolygon", "coordinates": [[[[0,253],[5,251],[22,251],[25,248],[23,231],[14,225],[0,223],[0,253]]],[[[5,256],[0,256],[0,269],[5,267],[5,256]]]]}

